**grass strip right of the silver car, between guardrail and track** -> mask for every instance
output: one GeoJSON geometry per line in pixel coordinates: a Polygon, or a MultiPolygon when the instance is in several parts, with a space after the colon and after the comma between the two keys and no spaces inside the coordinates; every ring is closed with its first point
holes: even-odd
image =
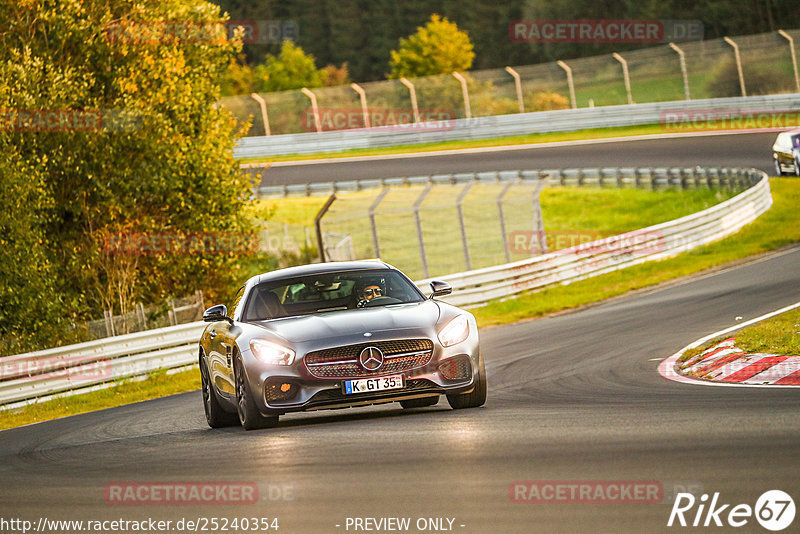
{"type": "Polygon", "coordinates": [[[510,323],[577,308],[628,291],[652,287],[800,242],[800,181],[770,180],[772,208],[737,234],[674,258],[650,262],[565,286],[523,293],[475,308],[480,326],[510,323]]]}

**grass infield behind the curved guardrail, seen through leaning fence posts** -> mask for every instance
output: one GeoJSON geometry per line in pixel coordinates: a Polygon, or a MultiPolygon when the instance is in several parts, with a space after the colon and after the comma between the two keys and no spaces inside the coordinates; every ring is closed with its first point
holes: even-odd
{"type": "MultiPolygon", "coordinates": [[[[478,269],[506,263],[500,223],[494,199],[502,191],[498,184],[479,184],[464,198],[464,221],[470,252],[470,267],[478,269]]],[[[463,186],[434,187],[422,204],[421,220],[429,275],[467,270],[463,254],[455,200],[463,186]]],[[[376,225],[381,259],[397,266],[412,279],[425,278],[416,239],[416,224],[410,207],[423,191],[421,186],[391,188],[381,202],[376,225]]],[[[323,219],[323,231],[348,235],[355,257],[378,254],[373,249],[367,208],[379,190],[342,195],[323,219]]],[[[518,238],[530,243],[532,221],[530,186],[516,186],[504,203],[506,233],[511,261],[531,255],[514,250],[518,238]]],[[[548,250],[566,248],[577,242],[594,241],[677,219],[708,208],[732,195],[729,191],[661,190],[617,188],[546,188],[541,194],[545,228],[550,236],[548,250]]],[[[263,200],[262,211],[271,213],[271,222],[311,225],[324,203],[322,198],[263,200]]]]}

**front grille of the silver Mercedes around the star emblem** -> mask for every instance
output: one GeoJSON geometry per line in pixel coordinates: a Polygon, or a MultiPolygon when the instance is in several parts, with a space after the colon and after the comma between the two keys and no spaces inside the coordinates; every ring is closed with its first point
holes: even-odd
{"type": "Polygon", "coordinates": [[[430,339],[397,339],[359,343],[306,354],[308,371],[317,378],[359,378],[400,373],[422,367],[431,361],[433,342],[430,339]],[[369,371],[361,366],[358,357],[367,347],[383,352],[383,365],[369,371]]]}

